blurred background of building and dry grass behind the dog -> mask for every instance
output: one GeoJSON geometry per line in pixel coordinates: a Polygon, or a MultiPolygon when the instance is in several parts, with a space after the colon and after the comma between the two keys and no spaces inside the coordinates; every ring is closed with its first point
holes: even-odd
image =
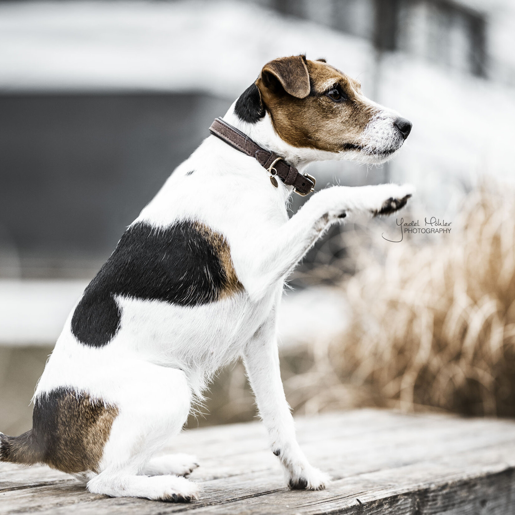
{"type": "MultiPolygon", "coordinates": [[[[410,182],[404,221],[451,231],[375,219],[317,243],[281,306],[288,401],[515,416],[514,49],[512,0],[0,2],[0,429],[31,426],[127,225],[262,66],[299,53],[414,125],[383,166],[314,165],[317,187],[410,182]]],[[[208,397],[191,427],[255,416],[239,363],[208,397]]]]}

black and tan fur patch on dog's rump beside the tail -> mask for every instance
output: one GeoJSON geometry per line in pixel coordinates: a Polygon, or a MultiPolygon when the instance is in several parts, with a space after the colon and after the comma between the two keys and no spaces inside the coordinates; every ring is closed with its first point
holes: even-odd
{"type": "Polygon", "coordinates": [[[88,394],[59,389],[37,399],[32,431],[42,461],[67,473],[99,472],[118,408],[88,394]]]}

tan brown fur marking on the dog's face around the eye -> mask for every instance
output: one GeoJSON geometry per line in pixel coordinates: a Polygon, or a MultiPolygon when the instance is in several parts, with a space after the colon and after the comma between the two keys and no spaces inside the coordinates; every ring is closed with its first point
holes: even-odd
{"type": "MultiPolygon", "coordinates": [[[[299,56],[276,61],[288,61],[290,69],[292,64],[297,63],[290,61],[292,59],[298,60],[299,56]]],[[[363,96],[361,84],[327,63],[306,59],[304,65],[308,72],[304,80],[308,81],[310,93],[303,98],[288,94],[279,87],[277,82],[283,85],[284,80],[279,80],[272,73],[274,69],[280,69],[279,66],[266,64],[256,81],[263,104],[280,138],[294,147],[329,152],[361,146],[363,131],[376,111],[363,96]],[[345,101],[336,102],[326,95],[333,87],[341,90],[346,96],[345,101]]],[[[302,76],[300,70],[296,76],[302,76]]],[[[307,91],[306,84],[303,89],[297,90],[307,91]]]]}

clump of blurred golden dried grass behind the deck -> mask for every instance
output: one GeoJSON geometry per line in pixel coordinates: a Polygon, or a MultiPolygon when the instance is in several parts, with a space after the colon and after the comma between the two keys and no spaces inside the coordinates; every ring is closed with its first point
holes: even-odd
{"type": "Polygon", "coordinates": [[[338,407],[347,384],[365,404],[515,416],[514,200],[471,193],[444,243],[391,244],[349,279],[351,323],[315,352],[326,386],[307,404],[338,407]]]}

